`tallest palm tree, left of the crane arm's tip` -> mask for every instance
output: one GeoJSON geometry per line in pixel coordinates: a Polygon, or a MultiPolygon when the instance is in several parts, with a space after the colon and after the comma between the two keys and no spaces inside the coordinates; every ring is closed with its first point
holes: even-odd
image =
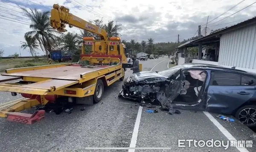
{"type": "Polygon", "coordinates": [[[31,20],[31,24],[29,28],[33,31],[29,31],[25,33],[25,37],[32,36],[32,40],[37,40],[42,50],[45,51],[48,56],[48,51],[52,50],[52,42],[54,39],[57,39],[55,34],[61,34],[54,30],[50,26],[49,20],[49,11],[38,11],[37,9],[30,11],[26,10],[26,8],[22,8],[25,11],[25,14],[31,20]]]}

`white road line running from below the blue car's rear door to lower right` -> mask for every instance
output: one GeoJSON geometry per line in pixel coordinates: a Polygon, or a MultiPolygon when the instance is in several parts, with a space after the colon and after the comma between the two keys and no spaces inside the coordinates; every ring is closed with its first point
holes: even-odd
{"type": "MultiPolygon", "coordinates": [[[[233,135],[230,134],[230,132],[227,131],[210,113],[203,111],[203,113],[212,121],[213,124],[227,137],[229,141],[236,141],[236,138],[233,137],[233,135]]],[[[244,147],[237,147],[240,152],[249,152],[246,148],[244,147]]]]}

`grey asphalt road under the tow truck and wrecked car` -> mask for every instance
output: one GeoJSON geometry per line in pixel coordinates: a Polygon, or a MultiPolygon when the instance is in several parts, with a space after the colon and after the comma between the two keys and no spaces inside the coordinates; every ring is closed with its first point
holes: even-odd
{"type": "MultiPolygon", "coordinates": [[[[169,59],[160,57],[140,61],[143,70],[166,70],[169,59]]],[[[125,77],[131,75],[127,70],[125,77]]],[[[1,152],[128,152],[128,150],[88,150],[86,147],[169,147],[171,149],[136,149],[135,152],[255,152],[256,137],[253,131],[240,122],[226,122],[215,118],[217,114],[180,110],[180,114],[169,115],[146,113],[147,107],[119,99],[122,82],[105,88],[104,98],[93,106],[74,107],[72,113],[47,113],[46,117],[33,125],[24,125],[0,119],[1,152]],[[80,109],[84,108],[84,111],[80,109]],[[138,114],[139,113],[139,114],[138,114]],[[219,124],[218,124],[219,123],[219,124]],[[221,128],[223,127],[223,128],[221,128]],[[138,130],[137,130],[138,129],[138,130]],[[137,132],[138,131],[138,132],[137,132]],[[228,134],[230,133],[230,134],[228,134]],[[253,140],[253,148],[235,147],[178,147],[178,140],[253,140]],[[247,151],[246,151],[247,150],[247,151]]],[[[0,101],[20,98],[10,93],[0,93],[0,101]]],[[[32,109],[33,110],[33,109],[32,109]]],[[[28,110],[27,112],[32,112],[28,110]]],[[[256,136],[256,135],[255,135],[256,136]]]]}

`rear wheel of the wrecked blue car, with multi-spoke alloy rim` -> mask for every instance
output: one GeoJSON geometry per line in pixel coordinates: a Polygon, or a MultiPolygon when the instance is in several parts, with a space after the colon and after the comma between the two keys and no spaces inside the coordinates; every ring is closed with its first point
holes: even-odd
{"type": "Polygon", "coordinates": [[[256,119],[256,105],[246,105],[243,107],[240,107],[235,114],[235,117],[241,121],[243,124],[245,124],[247,127],[256,127],[256,121],[254,124],[251,124],[253,122],[250,117],[253,117],[253,119],[256,119]],[[255,114],[253,114],[255,112],[255,114]],[[251,115],[253,114],[253,115],[251,115]],[[244,116],[245,115],[245,118],[244,116]],[[249,118],[247,118],[247,116],[249,118]],[[248,120],[248,122],[247,122],[248,120]]]}

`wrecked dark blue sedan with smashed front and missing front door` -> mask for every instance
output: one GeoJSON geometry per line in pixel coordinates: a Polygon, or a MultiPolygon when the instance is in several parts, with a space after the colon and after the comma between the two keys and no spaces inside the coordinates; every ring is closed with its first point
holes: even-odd
{"type": "Polygon", "coordinates": [[[125,79],[119,97],[166,109],[234,115],[246,126],[256,126],[256,74],[234,68],[188,63],[134,73],[125,79]]]}

